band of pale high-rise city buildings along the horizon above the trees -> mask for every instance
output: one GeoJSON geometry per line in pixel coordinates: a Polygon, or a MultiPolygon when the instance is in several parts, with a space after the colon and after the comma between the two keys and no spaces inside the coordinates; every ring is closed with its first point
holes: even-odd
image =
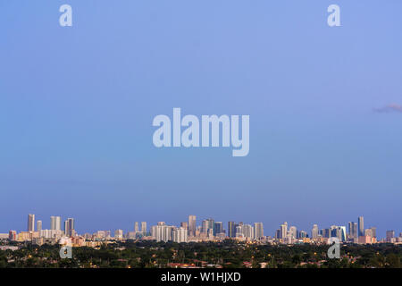
{"type": "MultiPolygon", "coordinates": [[[[331,225],[329,228],[319,229],[317,224],[313,225],[311,234],[307,231],[297,230],[296,226],[289,226],[282,223],[280,228],[275,231],[273,237],[264,236],[263,223],[236,223],[228,222],[227,230],[224,229],[222,222],[215,222],[213,218],[207,218],[197,225],[197,216],[188,215],[188,221],[180,223],[180,226],[167,225],[159,222],[151,226],[147,231],[147,222],[135,222],[133,231],[124,233],[122,230],[96,231],[95,233],[85,233],[78,235],[75,231],[74,219],[68,218],[63,222],[62,217],[50,217],[50,229],[43,229],[41,220],[35,221],[35,214],[28,214],[27,231],[9,232],[9,240],[32,240],[38,244],[57,241],[62,238],[70,238],[79,241],[80,245],[85,245],[85,241],[104,241],[104,240],[156,240],[156,241],[203,241],[203,240],[224,240],[227,238],[247,241],[265,241],[273,243],[325,243],[331,238],[337,238],[343,242],[353,243],[375,243],[377,233],[375,227],[364,228],[364,217],[359,216],[357,223],[349,222],[348,230],[346,226],[331,225]],[[36,228],[35,228],[36,226],[36,228]]],[[[402,233],[398,238],[395,231],[387,231],[387,242],[402,242],[402,233]]]]}

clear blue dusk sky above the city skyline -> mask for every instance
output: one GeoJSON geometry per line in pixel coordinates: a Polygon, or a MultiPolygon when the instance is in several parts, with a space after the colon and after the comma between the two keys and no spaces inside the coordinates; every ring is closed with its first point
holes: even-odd
{"type": "Polygon", "coordinates": [[[399,0],[0,0],[0,232],[73,217],[402,231],[399,0]],[[59,7],[72,7],[72,27],[59,7]],[[339,4],[340,27],[327,24],[339,4]],[[153,145],[248,114],[250,151],[153,145]]]}

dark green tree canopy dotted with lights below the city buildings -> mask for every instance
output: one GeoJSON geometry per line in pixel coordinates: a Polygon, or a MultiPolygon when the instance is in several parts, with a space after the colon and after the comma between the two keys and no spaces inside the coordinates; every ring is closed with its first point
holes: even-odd
{"type": "Polygon", "coordinates": [[[118,241],[100,248],[73,248],[72,259],[59,256],[60,246],[30,244],[0,250],[0,267],[402,267],[402,246],[343,245],[341,258],[329,259],[328,246],[250,244],[233,240],[203,243],[118,241]]]}

